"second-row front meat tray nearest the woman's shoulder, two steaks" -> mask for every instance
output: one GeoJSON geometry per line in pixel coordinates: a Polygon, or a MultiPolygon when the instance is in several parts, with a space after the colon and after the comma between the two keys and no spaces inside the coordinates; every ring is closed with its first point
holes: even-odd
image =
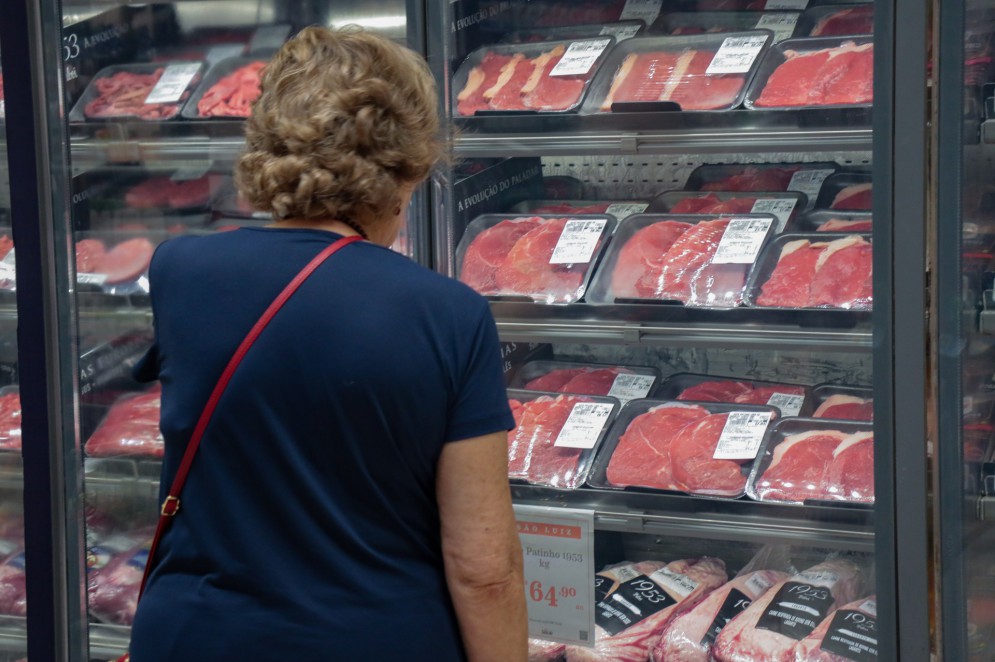
{"type": "Polygon", "coordinates": [[[571,303],[584,296],[614,229],[607,215],[484,214],[460,241],[457,273],[485,296],[571,303]]]}

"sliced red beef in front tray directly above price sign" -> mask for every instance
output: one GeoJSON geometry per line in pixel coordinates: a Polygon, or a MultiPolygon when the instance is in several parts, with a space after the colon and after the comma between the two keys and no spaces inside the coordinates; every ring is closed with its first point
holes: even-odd
{"type": "Polygon", "coordinates": [[[552,487],[577,487],[580,448],[555,446],[556,438],[570,417],[574,405],[589,398],[560,395],[540,396],[530,402],[512,404],[518,425],[508,435],[508,476],[552,487]]]}

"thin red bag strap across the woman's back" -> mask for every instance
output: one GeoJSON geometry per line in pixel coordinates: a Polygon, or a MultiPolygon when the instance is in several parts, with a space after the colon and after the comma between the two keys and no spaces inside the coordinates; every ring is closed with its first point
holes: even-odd
{"type": "MultiPolygon", "coordinates": [[[[256,323],[249,330],[249,333],[239,344],[238,349],[232,355],[231,359],[228,360],[228,365],[225,366],[224,372],[221,373],[218,383],[214,385],[214,390],[211,391],[211,397],[208,398],[207,404],[204,406],[204,411],[201,412],[200,418],[197,419],[197,427],[194,428],[193,434],[190,435],[190,442],[187,444],[187,449],[183,453],[183,461],[180,462],[179,469],[176,470],[176,476],[173,478],[173,484],[169,488],[169,496],[166,497],[165,501],[162,502],[162,510],[159,513],[159,522],[156,525],[155,535],[152,537],[152,545],[149,547],[148,560],[145,563],[145,573],[142,575],[142,583],[138,589],[138,599],[142,599],[142,593],[145,592],[145,583],[149,579],[149,574],[152,572],[152,563],[155,559],[155,553],[159,547],[159,541],[162,536],[166,533],[166,529],[169,528],[170,523],[173,521],[173,517],[180,510],[180,492],[183,490],[183,484],[186,483],[187,474],[190,473],[190,466],[193,464],[194,455],[197,453],[197,448],[200,446],[200,440],[204,436],[204,431],[207,429],[207,424],[211,421],[211,416],[214,414],[214,410],[218,406],[218,401],[221,399],[221,395],[224,393],[225,388],[228,386],[228,382],[231,381],[232,375],[235,374],[235,370],[238,365],[245,358],[246,353],[249,348],[252,347],[253,343],[259,337],[259,334],[263,332],[263,329],[270,323],[274,316],[283,307],[283,304],[293,296],[294,292],[297,291],[304,281],[314,273],[314,271],[324,263],[325,260],[330,258],[332,255],[337,253],[339,249],[345,248],[349,244],[354,244],[357,241],[362,241],[361,237],[349,236],[342,237],[341,239],[330,244],[327,248],[322,250],[318,255],[314,257],[307,265],[301,269],[301,271],[294,277],[290,283],[287,284],[283,291],[280,292],[279,296],[273,300],[273,302],[266,308],[265,312],[259,317],[256,323]]],[[[127,662],[129,659],[129,654],[125,653],[123,656],[118,658],[118,662],[127,662]]]]}

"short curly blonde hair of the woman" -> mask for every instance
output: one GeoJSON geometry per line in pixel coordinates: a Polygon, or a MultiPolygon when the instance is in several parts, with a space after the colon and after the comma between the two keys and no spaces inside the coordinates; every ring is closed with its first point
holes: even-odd
{"type": "Polygon", "coordinates": [[[357,28],[309,27],[263,71],[235,183],[276,219],[339,219],[366,229],[398,189],[424,180],[442,142],[424,60],[357,28]]]}

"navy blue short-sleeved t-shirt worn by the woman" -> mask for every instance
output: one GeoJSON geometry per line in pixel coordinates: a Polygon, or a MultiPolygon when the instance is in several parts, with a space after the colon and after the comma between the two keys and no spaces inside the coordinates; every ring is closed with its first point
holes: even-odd
{"type": "MultiPolygon", "coordinates": [[[[269,303],[339,235],[240,229],[150,269],[162,491],[269,303]]],[[[132,660],[462,660],[441,556],[446,442],[514,426],[486,301],[362,242],[333,255],[238,368],[135,617],[132,660]]]]}

